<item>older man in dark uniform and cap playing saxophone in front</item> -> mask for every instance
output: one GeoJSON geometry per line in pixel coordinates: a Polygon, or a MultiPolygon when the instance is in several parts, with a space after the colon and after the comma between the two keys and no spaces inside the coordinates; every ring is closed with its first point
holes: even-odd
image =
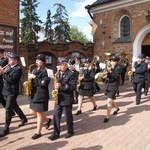
{"type": "Polygon", "coordinates": [[[74,102],[73,91],[76,88],[77,77],[74,71],[69,70],[68,60],[66,58],[58,59],[59,73],[56,75],[57,83],[54,84],[55,89],[58,89],[58,104],[54,108],[54,131],[50,140],[56,140],[60,136],[60,120],[64,112],[67,123],[67,134],[65,138],[70,138],[74,135],[72,104],[74,102]]]}

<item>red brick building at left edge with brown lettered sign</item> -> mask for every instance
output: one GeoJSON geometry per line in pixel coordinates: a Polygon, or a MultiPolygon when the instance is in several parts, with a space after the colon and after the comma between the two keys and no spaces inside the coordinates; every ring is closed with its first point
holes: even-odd
{"type": "MultiPolygon", "coordinates": [[[[19,47],[19,0],[0,1],[0,47],[17,53],[19,47]]],[[[7,54],[7,53],[6,53],[7,54]]]]}

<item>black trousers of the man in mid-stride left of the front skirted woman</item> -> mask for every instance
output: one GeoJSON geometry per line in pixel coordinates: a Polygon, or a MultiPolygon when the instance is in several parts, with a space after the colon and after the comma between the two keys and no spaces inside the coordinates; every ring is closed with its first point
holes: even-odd
{"type": "Polygon", "coordinates": [[[12,120],[13,110],[18,114],[21,120],[26,119],[26,116],[24,115],[20,107],[18,106],[16,99],[17,99],[17,96],[6,96],[6,106],[5,106],[6,113],[5,113],[4,131],[9,130],[9,126],[12,120]]]}

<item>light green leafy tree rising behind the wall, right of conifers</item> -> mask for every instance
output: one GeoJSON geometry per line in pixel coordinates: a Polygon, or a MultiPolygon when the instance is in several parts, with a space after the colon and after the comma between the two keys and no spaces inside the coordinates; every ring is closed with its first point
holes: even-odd
{"type": "Polygon", "coordinates": [[[83,32],[79,31],[78,27],[72,26],[69,32],[69,36],[71,41],[79,41],[81,43],[88,43],[89,40],[83,34],[83,32]]]}

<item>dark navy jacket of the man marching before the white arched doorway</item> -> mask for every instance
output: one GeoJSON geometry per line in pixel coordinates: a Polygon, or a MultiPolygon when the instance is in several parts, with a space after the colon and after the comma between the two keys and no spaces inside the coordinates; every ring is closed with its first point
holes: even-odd
{"type": "Polygon", "coordinates": [[[141,63],[135,62],[134,68],[136,70],[133,75],[133,83],[144,83],[147,64],[145,63],[145,61],[142,61],[141,63]]]}

